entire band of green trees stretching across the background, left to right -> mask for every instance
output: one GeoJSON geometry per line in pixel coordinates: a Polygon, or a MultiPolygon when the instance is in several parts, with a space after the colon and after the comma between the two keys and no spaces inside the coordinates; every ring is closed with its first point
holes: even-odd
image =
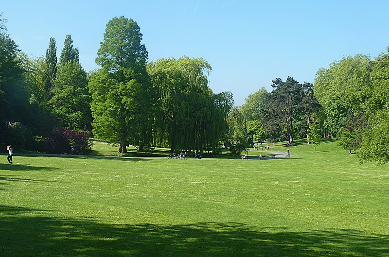
{"type": "Polygon", "coordinates": [[[212,92],[203,58],[148,61],[141,28],[123,16],[106,24],[96,64],[82,68],[71,34],[58,60],[53,37],[45,55],[25,54],[0,14],[1,147],[85,154],[95,137],[120,154],[129,145],[240,154],[264,142],[334,138],[360,162],[389,162],[389,49],[334,61],[313,84],[275,78],[270,92],[259,88],[242,106],[230,92],[212,92]]]}

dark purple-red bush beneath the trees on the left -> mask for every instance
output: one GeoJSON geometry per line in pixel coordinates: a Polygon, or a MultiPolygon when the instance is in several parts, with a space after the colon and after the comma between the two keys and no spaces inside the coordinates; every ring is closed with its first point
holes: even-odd
{"type": "Polygon", "coordinates": [[[69,128],[63,130],[54,128],[46,141],[46,152],[49,154],[71,153],[88,155],[92,151],[93,142],[89,139],[87,131],[72,131],[69,128]]]}

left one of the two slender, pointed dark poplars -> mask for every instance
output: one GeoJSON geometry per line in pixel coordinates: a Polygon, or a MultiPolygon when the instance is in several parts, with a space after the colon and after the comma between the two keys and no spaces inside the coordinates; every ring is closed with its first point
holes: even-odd
{"type": "Polygon", "coordinates": [[[46,50],[45,56],[45,89],[47,92],[47,99],[53,97],[54,80],[57,74],[57,48],[55,46],[55,39],[50,38],[49,48],[46,50]]]}

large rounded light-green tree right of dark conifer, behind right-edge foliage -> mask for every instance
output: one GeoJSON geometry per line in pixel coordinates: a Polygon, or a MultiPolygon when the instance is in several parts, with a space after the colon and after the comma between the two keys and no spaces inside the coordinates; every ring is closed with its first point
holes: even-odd
{"type": "Polygon", "coordinates": [[[367,101],[365,89],[369,85],[370,70],[370,57],[358,54],[344,57],[330,64],[328,69],[321,68],[316,73],[314,92],[324,108],[324,127],[330,137],[340,136],[349,111],[356,115],[363,109],[367,101]]]}

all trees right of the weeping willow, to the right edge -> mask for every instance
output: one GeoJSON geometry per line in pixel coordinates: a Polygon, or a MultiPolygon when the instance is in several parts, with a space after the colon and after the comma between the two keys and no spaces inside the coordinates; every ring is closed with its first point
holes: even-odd
{"type": "MultiPolygon", "coordinates": [[[[389,48],[371,59],[347,56],[318,70],[314,85],[292,77],[250,94],[228,118],[231,145],[250,140],[337,139],[361,163],[389,162],[389,48]]],[[[243,147],[241,147],[243,148],[243,147]]]]}

